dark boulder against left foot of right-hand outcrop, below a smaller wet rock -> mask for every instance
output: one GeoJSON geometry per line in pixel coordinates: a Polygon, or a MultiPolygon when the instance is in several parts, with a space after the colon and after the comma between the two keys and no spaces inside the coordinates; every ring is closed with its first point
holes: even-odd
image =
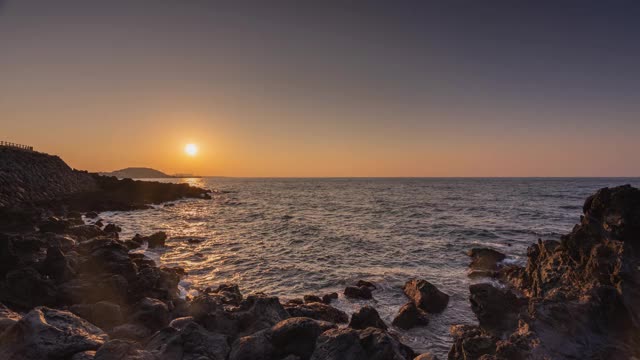
{"type": "Polygon", "coordinates": [[[471,310],[483,329],[496,334],[516,329],[519,312],[526,301],[491,284],[473,284],[469,286],[469,292],[471,310]]]}

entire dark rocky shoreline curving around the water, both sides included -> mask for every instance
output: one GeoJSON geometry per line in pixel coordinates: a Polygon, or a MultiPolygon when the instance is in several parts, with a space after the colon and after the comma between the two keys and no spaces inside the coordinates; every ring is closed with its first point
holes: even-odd
{"type": "MultiPolygon", "coordinates": [[[[371,299],[366,280],[287,301],[237,284],[182,298],[183,269],[130,252],[162,247],[167,235],[122,239],[97,212],[207,199],[207,190],[91,176],[90,192],[0,211],[0,359],[435,359],[397,336],[447,311],[449,295],[428,279],[407,279],[391,324],[371,306],[349,318],[331,305],[371,299]]],[[[560,241],[532,245],[526,267],[471,249],[469,275],[493,282],[470,286],[478,325],[451,328],[448,358],[640,356],[639,241],[640,190],[621,186],[589,197],[560,241]]]]}

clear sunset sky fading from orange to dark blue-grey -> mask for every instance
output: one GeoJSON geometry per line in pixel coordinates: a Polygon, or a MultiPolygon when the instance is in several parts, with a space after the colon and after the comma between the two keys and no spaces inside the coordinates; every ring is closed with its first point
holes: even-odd
{"type": "Polygon", "coordinates": [[[0,0],[0,138],[90,171],[640,176],[640,4],[527,3],[0,0]]]}

